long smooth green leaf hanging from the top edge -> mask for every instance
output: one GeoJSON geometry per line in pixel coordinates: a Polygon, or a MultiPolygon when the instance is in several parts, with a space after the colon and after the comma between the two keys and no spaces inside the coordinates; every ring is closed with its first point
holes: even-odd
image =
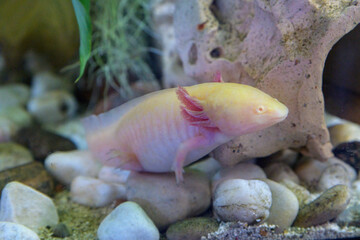
{"type": "Polygon", "coordinates": [[[75,82],[79,81],[91,54],[91,20],[90,0],[72,0],[80,32],[80,73],[75,82]]]}

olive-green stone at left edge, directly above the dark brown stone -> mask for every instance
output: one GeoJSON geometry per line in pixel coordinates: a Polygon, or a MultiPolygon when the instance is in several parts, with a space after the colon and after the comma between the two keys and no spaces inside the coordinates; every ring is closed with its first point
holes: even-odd
{"type": "Polygon", "coordinates": [[[0,171],[34,161],[29,150],[23,146],[7,142],[0,143],[0,171]]]}

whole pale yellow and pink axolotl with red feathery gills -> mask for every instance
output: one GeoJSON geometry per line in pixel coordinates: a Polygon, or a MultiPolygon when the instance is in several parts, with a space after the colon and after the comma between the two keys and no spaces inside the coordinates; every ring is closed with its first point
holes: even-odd
{"type": "Polygon", "coordinates": [[[281,122],[288,108],[243,84],[210,82],[160,90],[83,119],[89,149],[104,165],[174,171],[216,147],[281,122]]]}

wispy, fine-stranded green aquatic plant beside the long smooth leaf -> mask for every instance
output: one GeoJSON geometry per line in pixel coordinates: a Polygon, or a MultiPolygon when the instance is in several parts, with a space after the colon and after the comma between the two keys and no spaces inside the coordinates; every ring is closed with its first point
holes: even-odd
{"type": "MultiPolygon", "coordinates": [[[[74,2],[79,0],[73,0],[74,2]]],[[[85,43],[89,38],[88,31],[91,31],[87,28],[83,35],[80,35],[83,44],[83,48],[80,46],[80,77],[87,61],[87,73],[90,79],[99,81],[105,79],[105,92],[112,87],[122,96],[127,97],[132,95],[130,76],[154,80],[153,72],[146,61],[149,51],[153,50],[148,46],[148,37],[152,35],[149,28],[149,2],[147,0],[91,1],[89,14],[93,25],[92,49],[87,48],[88,45],[85,43]],[[81,52],[82,50],[88,52],[81,52]]],[[[86,24],[79,25],[80,34],[84,26],[86,28],[86,24]]]]}

